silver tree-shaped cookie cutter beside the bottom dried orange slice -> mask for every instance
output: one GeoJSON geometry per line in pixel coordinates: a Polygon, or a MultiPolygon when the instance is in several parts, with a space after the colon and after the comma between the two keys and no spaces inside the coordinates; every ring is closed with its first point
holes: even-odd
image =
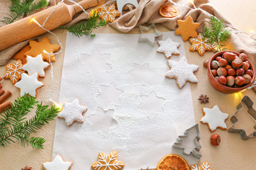
{"type": "Polygon", "coordinates": [[[186,156],[192,155],[193,157],[196,157],[197,159],[201,159],[202,155],[199,153],[199,150],[201,149],[201,145],[199,144],[199,140],[200,140],[200,132],[199,132],[199,128],[198,128],[198,124],[193,125],[191,128],[188,128],[187,130],[185,130],[184,135],[178,136],[177,141],[175,142],[173,147],[176,149],[181,149],[183,150],[183,154],[185,154],[186,156]],[[184,147],[180,147],[180,145],[182,145],[182,143],[184,142],[184,138],[188,137],[188,135],[190,135],[190,130],[192,130],[193,128],[196,128],[196,137],[194,138],[194,144],[196,145],[195,149],[193,149],[189,154],[187,154],[185,152],[185,148],[184,147]]]}

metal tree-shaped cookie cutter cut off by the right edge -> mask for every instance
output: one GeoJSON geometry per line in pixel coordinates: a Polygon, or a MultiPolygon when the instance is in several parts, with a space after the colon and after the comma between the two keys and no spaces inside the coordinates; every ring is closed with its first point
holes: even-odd
{"type": "Polygon", "coordinates": [[[242,102],[245,103],[245,105],[248,108],[247,113],[249,113],[252,116],[252,118],[256,121],[256,111],[255,111],[254,108],[252,108],[253,102],[252,102],[252,100],[248,96],[245,96],[244,98],[242,98],[241,103],[238,104],[237,111],[235,111],[235,114],[232,116],[232,118],[230,118],[230,120],[233,123],[233,125],[231,126],[231,128],[228,129],[228,132],[230,132],[230,133],[239,133],[241,138],[242,138],[242,140],[249,140],[251,137],[256,136],[256,125],[254,126],[255,131],[253,131],[249,136],[246,135],[245,130],[233,128],[235,123],[238,122],[238,118],[235,115],[236,115],[236,113],[238,113],[240,108],[242,108],[242,106],[243,106],[242,102]]]}

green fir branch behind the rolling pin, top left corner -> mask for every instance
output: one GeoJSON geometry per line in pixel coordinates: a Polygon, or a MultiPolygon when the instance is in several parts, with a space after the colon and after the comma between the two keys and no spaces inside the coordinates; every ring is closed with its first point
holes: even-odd
{"type": "Polygon", "coordinates": [[[39,10],[48,6],[47,0],[40,0],[38,3],[33,3],[34,0],[11,0],[11,6],[9,7],[10,13],[3,18],[2,23],[13,23],[18,17],[23,14],[28,15],[33,11],[39,10]]]}

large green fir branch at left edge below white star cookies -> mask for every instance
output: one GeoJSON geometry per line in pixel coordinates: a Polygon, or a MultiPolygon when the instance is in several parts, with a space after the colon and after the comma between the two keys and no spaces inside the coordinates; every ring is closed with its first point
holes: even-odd
{"type": "Polygon", "coordinates": [[[0,115],[0,146],[6,147],[21,141],[22,146],[31,145],[33,148],[43,148],[46,142],[43,137],[30,137],[31,133],[36,132],[53,120],[58,113],[58,108],[43,106],[38,104],[35,98],[25,95],[18,98],[10,109],[0,115]],[[26,120],[25,116],[36,106],[36,115],[26,120]]]}

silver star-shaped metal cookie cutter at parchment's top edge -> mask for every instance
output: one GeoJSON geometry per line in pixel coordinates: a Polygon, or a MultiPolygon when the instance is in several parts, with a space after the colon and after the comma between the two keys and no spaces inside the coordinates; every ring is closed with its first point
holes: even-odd
{"type": "Polygon", "coordinates": [[[147,42],[149,43],[149,45],[151,45],[152,47],[154,46],[154,42],[156,41],[156,39],[161,39],[163,37],[163,33],[161,33],[159,30],[156,30],[156,25],[154,23],[151,24],[151,26],[149,27],[145,27],[145,26],[139,26],[139,40],[138,42],[147,42]],[[142,34],[143,34],[143,30],[146,30],[146,32],[149,32],[149,30],[154,29],[154,40],[150,40],[149,38],[143,38],[142,34]]]}

